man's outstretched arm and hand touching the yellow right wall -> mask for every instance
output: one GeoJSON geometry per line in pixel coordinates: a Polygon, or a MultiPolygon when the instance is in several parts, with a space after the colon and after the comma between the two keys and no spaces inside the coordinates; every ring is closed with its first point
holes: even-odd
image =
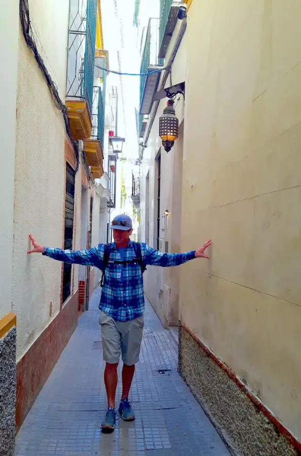
{"type": "Polygon", "coordinates": [[[211,245],[211,239],[207,241],[198,250],[192,250],[191,252],[185,253],[162,253],[158,250],[152,249],[149,245],[146,245],[145,262],[146,264],[153,264],[155,266],[169,267],[178,266],[194,258],[207,258],[205,250],[211,245]]]}

